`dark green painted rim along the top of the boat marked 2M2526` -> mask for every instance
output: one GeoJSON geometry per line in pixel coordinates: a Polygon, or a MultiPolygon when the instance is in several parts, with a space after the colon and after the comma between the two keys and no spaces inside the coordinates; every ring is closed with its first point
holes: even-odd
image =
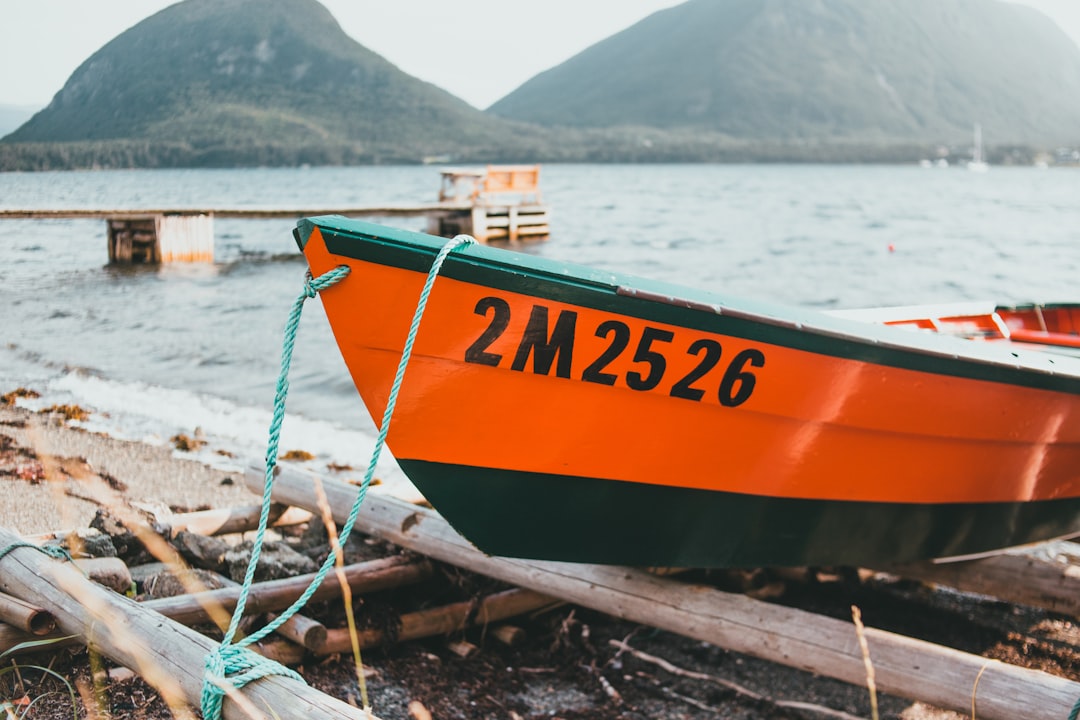
{"type": "MultiPolygon", "coordinates": [[[[444,242],[422,233],[388,228],[340,216],[311,218],[334,255],[427,272],[444,242]]],[[[540,299],[578,304],[644,321],[664,323],[746,340],[889,367],[987,380],[1080,394],[1080,370],[1048,365],[1048,355],[1022,351],[1011,355],[958,338],[918,334],[883,325],[834,317],[806,308],[729,297],[616,274],[523,253],[483,245],[455,253],[444,276],[540,299]],[[634,288],[679,298],[665,303],[620,294],[634,288]],[[698,307],[687,307],[691,303],[698,307]],[[712,310],[718,308],[719,312],[712,310]],[[987,357],[978,353],[990,353],[987,357]],[[1018,357],[1037,364],[1017,367],[1018,357]],[[1042,367],[1045,365],[1045,367],[1042,367]]],[[[1057,358],[1066,363],[1070,358],[1057,358]]],[[[1074,368],[1080,364],[1074,361],[1074,368]]]]}

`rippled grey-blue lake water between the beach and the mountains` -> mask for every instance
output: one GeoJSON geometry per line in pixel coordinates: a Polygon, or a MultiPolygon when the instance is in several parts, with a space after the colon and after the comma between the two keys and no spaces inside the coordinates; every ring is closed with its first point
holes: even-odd
{"type": "MultiPolygon", "coordinates": [[[[437,184],[432,167],[8,173],[0,208],[414,204],[437,184]]],[[[549,165],[541,188],[552,237],[525,252],[559,260],[822,309],[1080,300],[1076,169],[549,165]]],[[[103,220],[0,220],[0,393],[147,441],[198,426],[237,453],[204,454],[218,464],[262,457],[306,270],[293,226],[218,219],[215,263],[132,269],[106,264],[103,220]]],[[[318,300],[288,410],[283,449],[366,464],[373,425],[318,300]]]]}

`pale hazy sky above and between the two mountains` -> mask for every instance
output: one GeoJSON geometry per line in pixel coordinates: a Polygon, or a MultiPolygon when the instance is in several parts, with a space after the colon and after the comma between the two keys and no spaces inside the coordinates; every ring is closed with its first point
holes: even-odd
{"type": "MultiPolygon", "coordinates": [[[[486,108],[589,45],[681,0],[323,0],[354,40],[486,108]]],[[[901,2],[902,0],[895,0],[901,2]]],[[[1080,45],[1080,0],[1017,0],[1080,45]]],[[[175,0],[0,0],[0,104],[41,107],[109,40],[175,0]]]]}

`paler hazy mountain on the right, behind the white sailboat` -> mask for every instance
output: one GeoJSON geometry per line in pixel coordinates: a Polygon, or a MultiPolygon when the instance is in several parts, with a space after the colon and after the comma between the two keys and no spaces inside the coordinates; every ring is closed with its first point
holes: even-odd
{"type": "Polygon", "coordinates": [[[1080,49],[998,0],[690,0],[489,108],[778,141],[1080,141],[1080,49]]]}

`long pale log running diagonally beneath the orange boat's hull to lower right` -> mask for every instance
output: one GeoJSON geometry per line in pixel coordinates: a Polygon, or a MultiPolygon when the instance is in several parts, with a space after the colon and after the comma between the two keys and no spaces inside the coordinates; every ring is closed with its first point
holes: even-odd
{"type": "MultiPolygon", "coordinates": [[[[261,492],[262,472],[246,473],[261,492]]],[[[321,480],[337,521],[357,488],[321,480]]],[[[283,468],[273,499],[318,512],[313,478],[283,468]]],[[[437,513],[368,493],[356,528],[432,558],[634,622],[865,685],[866,665],[852,624],[769,604],[712,587],[688,585],[631,568],[546,562],[484,555],[437,513]]],[[[865,629],[877,689],[970,712],[983,720],[1061,720],[1080,697],[1080,683],[978,655],[865,629]]]]}

